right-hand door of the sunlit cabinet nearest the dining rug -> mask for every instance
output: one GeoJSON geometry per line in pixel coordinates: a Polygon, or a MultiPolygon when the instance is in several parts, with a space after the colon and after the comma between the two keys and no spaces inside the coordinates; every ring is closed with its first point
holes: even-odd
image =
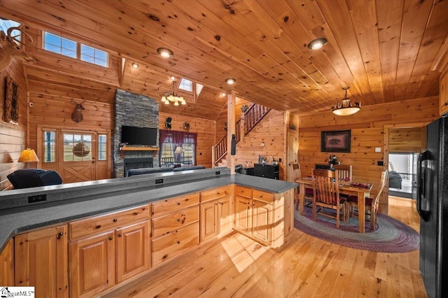
{"type": "Polygon", "coordinates": [[[272,239],[272,205],[254,199],[252,207],[253,236],[270,244],[272,239]]]}

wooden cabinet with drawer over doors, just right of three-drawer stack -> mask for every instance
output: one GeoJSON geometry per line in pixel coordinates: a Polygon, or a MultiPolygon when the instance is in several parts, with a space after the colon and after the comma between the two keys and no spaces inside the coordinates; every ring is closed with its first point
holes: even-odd
{"type": "Polygon", "coordinates": [[[233,204],[230,185],[201,192],[200,241],[223,236],[232,230],[233,204]]]}

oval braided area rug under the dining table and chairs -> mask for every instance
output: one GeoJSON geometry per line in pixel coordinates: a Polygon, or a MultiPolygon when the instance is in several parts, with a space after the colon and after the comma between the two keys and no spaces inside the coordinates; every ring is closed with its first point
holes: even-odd
{"type": "Polygon", "coordinates": [[[336,220],[318,215],[313,220],[312,208],[304,208],[304,215],[299,211],[294,214],[294,227],[306,234],[319,239],[336,243],[341,246],[369,250],[379,253],[407,253],[419,249],[419,233],[388,215],[378,215],[378,225],[375,231],[370,229],[370,222],[366,220],[365,234],[358,232],[358,219],[350,218],[349,222],[336,220]]]}

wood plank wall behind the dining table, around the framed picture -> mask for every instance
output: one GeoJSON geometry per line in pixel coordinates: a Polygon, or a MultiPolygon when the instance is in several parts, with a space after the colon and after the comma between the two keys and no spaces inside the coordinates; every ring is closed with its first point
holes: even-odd
{"type": "MultiPolygon", "coordinates": [[[[384,126],[422,127],[439,117],[438,97],[365,106],[351,116],[336,116],[330,111],[303,115],[299,119],[298,160],[302,176],[311,175],[314,164],[326,163],[330,152],[321,152],[321,132],[351,129],[351,152],[334,153],[342,164],[353,165],[353,179],[374,183],[377,193],[381,171],[387,169],[388,144],[384,144],[384,126]],[[381,152],[375,152],[375,148],[381,152]],[[379,166],[378,162],[383,162],[379,166]]],[[[387,132],[388,133],[388,132],[387,132]]],[[[380,211],[387,212],[387,193],[380,200],[380,211]]]]}

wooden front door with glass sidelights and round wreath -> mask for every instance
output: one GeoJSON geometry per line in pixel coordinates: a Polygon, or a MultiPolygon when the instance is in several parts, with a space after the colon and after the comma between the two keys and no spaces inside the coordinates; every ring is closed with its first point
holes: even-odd
{"type": "Polygon", "coordinates": [[[42,128],[40,137],[39,166],[57,171],[63,183],[111,178],[107,132],[42,128]]]}

